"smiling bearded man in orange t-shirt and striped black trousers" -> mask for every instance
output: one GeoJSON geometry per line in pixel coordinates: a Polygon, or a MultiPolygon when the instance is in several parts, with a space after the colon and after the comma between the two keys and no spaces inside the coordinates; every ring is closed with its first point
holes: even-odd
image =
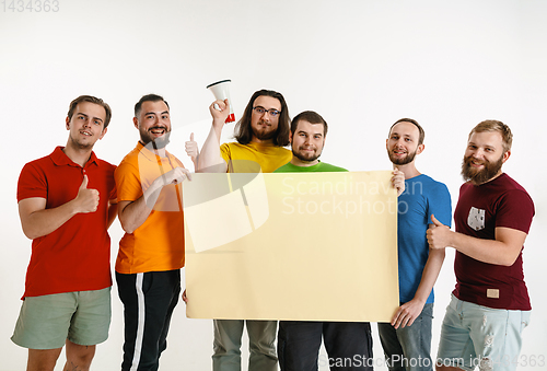
{"type": "Polygon", "coordinates": [[[121,370],[148,371],[158,370],[181,293],[181,183],[189,173],[165,150],[171,119],[162,96],[142,96],[135,105],[133,124],[140,140],[114,174],[118,218],[126,232],[119,242],[116,282],[124,303],[121,370]]]}

